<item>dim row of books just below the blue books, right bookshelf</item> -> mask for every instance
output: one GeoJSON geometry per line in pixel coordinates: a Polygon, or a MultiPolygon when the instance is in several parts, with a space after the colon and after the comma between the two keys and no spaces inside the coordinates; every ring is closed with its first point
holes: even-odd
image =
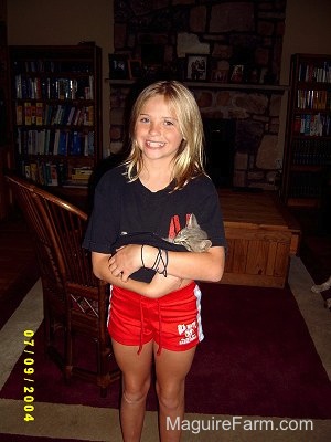
{"type": "Polygon", "coordinates": [[[295,139],[292,141],[292,164],[299,166],[328,166],[331,165],[331,143],[321,139],[311,141],[295,139]]]}

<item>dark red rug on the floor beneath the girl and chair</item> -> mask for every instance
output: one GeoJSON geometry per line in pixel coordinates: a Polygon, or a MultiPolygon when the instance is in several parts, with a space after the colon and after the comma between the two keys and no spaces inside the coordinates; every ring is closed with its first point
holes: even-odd
{"type": "MultiPolygon", "coordinates": [[[[289,288],[202,284],[205,334],[186,382],[186,411],[211,414],[331,418],[331,383],[289,288]]],[[[81,343],[81,356],[90,349],[81,343]]],[[[25,355],[26,357],[26,355],[25,355]]],[[[23,358],[1,391],[22,399],[23,358]]],[[[35,335],[35,402],[118,407],[119,381],[106,398],[93,385],[65,385],[35,335]]],[[[148,409],[156,410],[151,390],[148,409]]]]}

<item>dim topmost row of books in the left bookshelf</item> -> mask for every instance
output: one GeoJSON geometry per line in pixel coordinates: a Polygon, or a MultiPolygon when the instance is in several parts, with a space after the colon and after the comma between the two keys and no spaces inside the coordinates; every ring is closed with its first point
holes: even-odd
{"type": "Polygon", "coordinates": [[[93,72],[93,63],[83,61],[54,61],[54,60],[15,60],[13,62],[14,72],[68,72],[88,73],[93,72]]]}

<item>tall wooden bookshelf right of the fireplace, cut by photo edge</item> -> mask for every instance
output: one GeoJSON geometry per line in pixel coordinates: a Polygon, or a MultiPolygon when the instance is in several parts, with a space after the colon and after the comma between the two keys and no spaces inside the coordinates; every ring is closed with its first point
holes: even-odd
{"type": "Polygon", "coordinates": [[[331,55],[293,54],[284,181],[288,207],[320,209],[331,167],[331,55]]]}

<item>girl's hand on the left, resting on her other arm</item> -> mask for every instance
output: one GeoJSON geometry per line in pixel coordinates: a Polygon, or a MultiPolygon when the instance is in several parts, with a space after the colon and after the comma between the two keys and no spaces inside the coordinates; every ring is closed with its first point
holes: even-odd
{"type": "Polygon", "coordinates": [[[129,244],[118,249],[108,260],[108,269],[110,273],[120,277],[122,282],[127,282],[128,277],[141,267],[140,256],[141,245],[129,244]]]}

